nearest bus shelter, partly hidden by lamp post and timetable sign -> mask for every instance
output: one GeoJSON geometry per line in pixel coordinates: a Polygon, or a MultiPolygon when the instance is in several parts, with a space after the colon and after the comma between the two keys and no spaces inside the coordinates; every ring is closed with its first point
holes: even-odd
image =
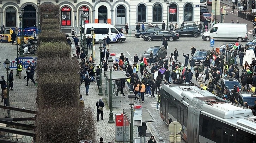
{"type": "MultiPolygon", "coordinates": [[[[146,107],[142,108],[142,125],[147,122],[155,122],[153,116],[150,111],[146,107]]],[[[130,123],[131,123],[131,109],[123,109],[123,142],[130,142],[130,123]]],[[[137,128],[133,127],[133,137],[138,137],[138,126],[137,128]],[[136,133],[136,134],[134,134],[136,133]]],[[[146,136],[151,136],[146,134],[146,136]]],[[[133,139],[135,141],[135,139],[133,139]]]]}

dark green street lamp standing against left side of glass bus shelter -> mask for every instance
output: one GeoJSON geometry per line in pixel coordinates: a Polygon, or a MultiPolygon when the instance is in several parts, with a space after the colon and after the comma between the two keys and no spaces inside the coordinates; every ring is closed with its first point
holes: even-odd
{"type": "Polygon", "coordinates": [[[114,60],[112,59],[112,57],[109,57],[108,59],[109,62],[109,69],[110,69],[110,81],[109,81],[109,123],[115,123],[114,121],[114,117],[113,117],[113,105],[112,105],[112,68],[113,68],[113,62],[114,60]]]}

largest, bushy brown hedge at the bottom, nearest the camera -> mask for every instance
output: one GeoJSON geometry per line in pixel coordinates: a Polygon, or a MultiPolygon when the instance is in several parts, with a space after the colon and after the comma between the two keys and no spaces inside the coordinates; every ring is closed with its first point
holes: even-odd
{"type": "Polygon", "coordinates": [[[37,143],[79,143],[81,140],[96,142],[92,105],[79,108],[46,108],[39,110],[36,120],[37,143]]]}

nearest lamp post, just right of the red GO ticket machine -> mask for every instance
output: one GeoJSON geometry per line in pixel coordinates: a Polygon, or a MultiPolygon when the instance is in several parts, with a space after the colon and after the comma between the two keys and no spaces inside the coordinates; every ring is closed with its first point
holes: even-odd
{"type": "Polygon", "coordinates": [[[129,101],[130,101],[130,109],[131,109],[131,124],[130,124],[130,143],[133,143],[133,105],[134,105],[134,98],[135,94],[133,94],[133,91],[130,91],[130,94],[128,95],[129,101]]]}

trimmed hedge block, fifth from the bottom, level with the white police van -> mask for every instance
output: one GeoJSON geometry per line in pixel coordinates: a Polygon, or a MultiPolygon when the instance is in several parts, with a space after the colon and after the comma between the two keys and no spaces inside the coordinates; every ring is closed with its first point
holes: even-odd
{"type": "Polygon", "coordinates": [[[67,38],[65,33],[61,33],[59,29],[55,30],[42,30],[38,35],[39,42],[66,42],[67,38]]]}

